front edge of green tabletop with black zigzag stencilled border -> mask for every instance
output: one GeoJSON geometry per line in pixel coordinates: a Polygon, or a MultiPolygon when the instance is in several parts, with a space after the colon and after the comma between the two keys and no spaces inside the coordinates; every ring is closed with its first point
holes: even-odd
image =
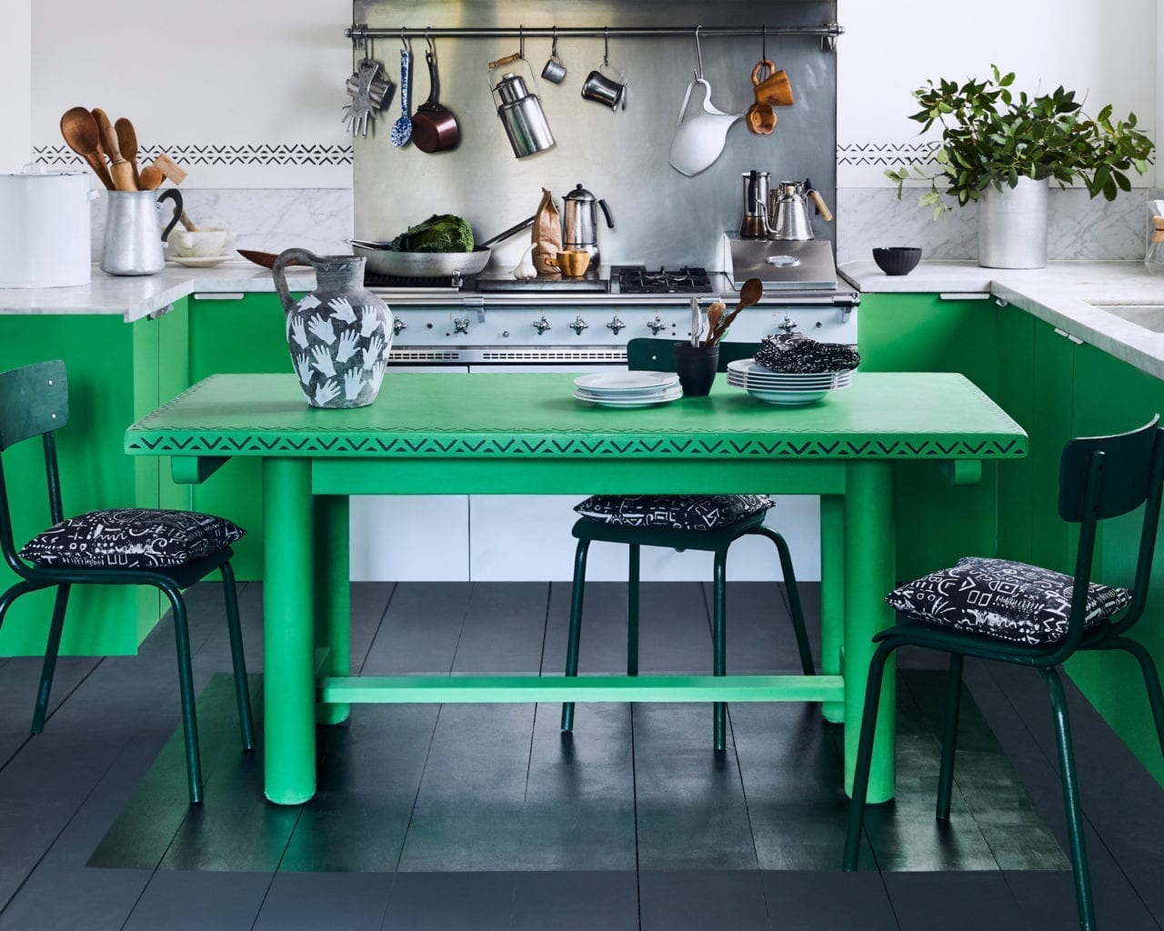
{"type": "Polygon", "coordinates": [[[236,433],[173,436],[169,432],[137,431],[126,440],[128,453],[179,456],[232,456],[239,454],[354,457],[477,459],[1017,459],[1027,455],[1025,438],[914,440],[885,436],[868,440],[833,438],[707,436],[701,439],[625,436],[530,436],[468,434],[457,436],[392,436],[343,433],[306,436],[271,433],[236,433]]]}

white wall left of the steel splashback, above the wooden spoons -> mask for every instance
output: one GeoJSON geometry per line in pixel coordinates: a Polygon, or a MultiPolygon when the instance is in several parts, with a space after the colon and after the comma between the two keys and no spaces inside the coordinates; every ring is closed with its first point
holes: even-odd
{"type": "Polygon", "coordinates": [[[41,161],[61,154],[61,114],[79,105],[133,120],[142,148],[190,172],[185,187],[350,187],[350,2],[17,2],[31,9],[41,161]]]}

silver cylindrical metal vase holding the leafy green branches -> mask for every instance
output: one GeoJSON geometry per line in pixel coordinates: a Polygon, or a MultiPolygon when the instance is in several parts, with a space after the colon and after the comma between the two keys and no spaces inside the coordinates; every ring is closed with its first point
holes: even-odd
{"type": "Polygon", "coordinates": [[[988,185],[978,200],[978,264],[988,269],[1046,265],[1046,178],[1017,187],[988,185]]]}

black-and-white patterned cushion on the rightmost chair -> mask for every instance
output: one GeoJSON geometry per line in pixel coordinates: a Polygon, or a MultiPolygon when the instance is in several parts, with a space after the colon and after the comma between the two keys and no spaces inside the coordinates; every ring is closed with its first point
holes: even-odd
{"type": "MultiPolygon", "coordinates": [[[[894,589],[885,599],[927,624],[1045,646],[1067,635],[1073,584],[1071,576],[1037,566],[965,556],[950,569],[894,589]]],[[[1130,602],[1128,589],[1092,583],[1084,628],[1102,623],[1130,602]]]]}

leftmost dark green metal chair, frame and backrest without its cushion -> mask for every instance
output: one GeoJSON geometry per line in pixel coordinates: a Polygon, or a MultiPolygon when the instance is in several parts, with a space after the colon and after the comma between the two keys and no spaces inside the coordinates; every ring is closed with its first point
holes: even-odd
{"type": "MultiPolygon", "coordinates": [[[[49,518],[51,524],[63,519],[61,500],[61,477],[57,467],[56,432],[69,422],[69,388],[65,364],[59,360],[26,365],[0,374],[0,454],[23,440],[40,436],[44,447],[44,466],[48,478],[49,518]]],[[[130,468],[128,464],[126,468],[130,468]]],[[[22,493],[27,490],[22,489],[22,493]]],[[[132,513],[129,519],[132,519],[132,513]]],[[[190,784],[190,802],[203,801],[201,761],[198,749],[198,719],[194,711],[193,675],[190,666],[190,637],[186,621],[186,605],[183,589],[200,582],[214,570],[222,574],[226,594],[227,626],[230,635],[230,655],[234,666],[235,698],[239,706],[239,723],[242,745],[254,749],[254,723],[250,712],[250,695],[247,690],[247,668],[242,649],[242,632],[239,625],[239,603],[235,594],[234,571],[229,546],[203,559],[180,566],[143,568],[118,568],[115,566],[74,568],[27,563],[16,549],[13,539],[12,513],[8,490],[5,484],[3,457],[0,455],[0,553],[5,562],[20,576],[20,581],[0,595],[0,623],[20,596],[41,589],[56,588],[56,602],[49,625],[48,644],[41,683],[33,712],[33,733],[44,730],[49,691],[56,669],[61,632],[64,626],[69,592],[74,584],[90,585],[152,585],[170,600],[173,609],[173,632],[178,649],[178,685],[182,697],[182,724],[185,735],[186,775],[190,784]]]]}

